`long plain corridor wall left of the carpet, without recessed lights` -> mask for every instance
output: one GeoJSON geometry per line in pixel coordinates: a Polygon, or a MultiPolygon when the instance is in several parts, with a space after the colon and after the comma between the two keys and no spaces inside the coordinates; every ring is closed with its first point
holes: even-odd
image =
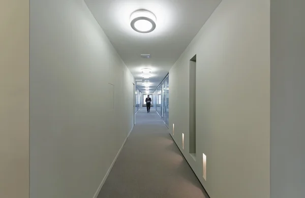
{"type": "Polygon", "coordinates": [[[134,78],[83,0],[32,0],[30,28],[31,198],[94,197],[133,126],[134,78]]]}

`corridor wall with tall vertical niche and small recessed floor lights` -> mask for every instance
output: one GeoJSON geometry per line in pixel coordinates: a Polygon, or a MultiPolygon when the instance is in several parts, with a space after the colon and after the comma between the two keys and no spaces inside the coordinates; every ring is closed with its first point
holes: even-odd
{"type": "Polygon", "coordinates": [[[211,198],[270,197],[270,2],[223,0],[169,72],[170,131],[211,198]],[[189,61],[197,54],[196,161],[189,61]],[[207,156],[207,180],[202,177],[207,156]]]}

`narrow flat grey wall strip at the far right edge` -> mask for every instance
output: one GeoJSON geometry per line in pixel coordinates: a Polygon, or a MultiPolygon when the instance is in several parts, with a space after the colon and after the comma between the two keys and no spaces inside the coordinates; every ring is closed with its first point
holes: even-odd
{"type": "Polygon", "coordinates": [[[271,0],[271,197],[305,194],[305,1],[271,0]]]}

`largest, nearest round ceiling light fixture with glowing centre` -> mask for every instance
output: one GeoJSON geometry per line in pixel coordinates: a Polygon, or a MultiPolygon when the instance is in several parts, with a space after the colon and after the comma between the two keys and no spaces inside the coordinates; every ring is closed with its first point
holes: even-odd
{"type": "Polygon", "coordinates": [[[131,27],[140,33],[149,33],[156,28],[157,18],[148,10],[137,10],[130,16],[131,27]]]}

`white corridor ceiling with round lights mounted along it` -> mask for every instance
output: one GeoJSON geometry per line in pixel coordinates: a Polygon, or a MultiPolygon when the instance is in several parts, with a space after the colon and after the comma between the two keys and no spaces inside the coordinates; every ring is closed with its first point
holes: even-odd
{"type": "MultiPolygon", "coordinates": [[[[151,68],[150,93],[222,0],[85,0],[110,42],[135,79],[151,68]],[[146,9],[157,17],[153,32],[141,34],[130,26],[130,15],[146,9]],[[140,54],[150,54],[149,59],[140,54]]],[[[144,86],[137,85],[143,92],[144,86]]]]}

